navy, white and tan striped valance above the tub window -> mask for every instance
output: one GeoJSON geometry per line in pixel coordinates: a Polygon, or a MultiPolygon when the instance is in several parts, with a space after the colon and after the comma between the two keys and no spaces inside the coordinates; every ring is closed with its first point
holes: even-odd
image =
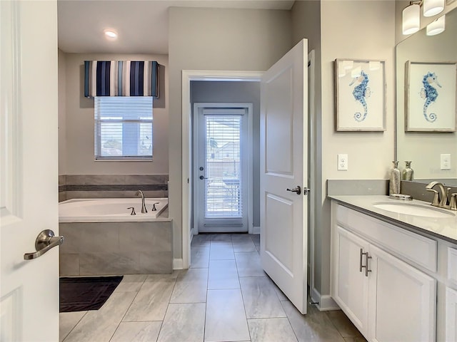
{"type": "Polygon", "coordinates": [[[159,97],[156,61],[84,61],[84,96],[159,97]]]}

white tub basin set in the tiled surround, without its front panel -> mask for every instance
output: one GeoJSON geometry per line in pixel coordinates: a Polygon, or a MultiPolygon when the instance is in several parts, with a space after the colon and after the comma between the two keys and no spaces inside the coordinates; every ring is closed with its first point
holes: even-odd
{"type": "Polygon", "coordinates": [[[59,222],[147,222],[157,219],[168,207],[168,198],[145,199],[147,213],[141,213],[141,198],[69,199],[59,203],[59,222]],[[153,205],[155,211],[152,211],[153,205]],[[131,215],[134,207],[136,215],[131,215]]]}

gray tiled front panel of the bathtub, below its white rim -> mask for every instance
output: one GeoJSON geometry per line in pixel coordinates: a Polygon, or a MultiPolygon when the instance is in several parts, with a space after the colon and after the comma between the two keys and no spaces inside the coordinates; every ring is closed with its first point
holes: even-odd
{"type": "Polygon", "coordinates": [[[60,275],[171,273],[172,232],[171,220],[60,223],[60,275]]]}

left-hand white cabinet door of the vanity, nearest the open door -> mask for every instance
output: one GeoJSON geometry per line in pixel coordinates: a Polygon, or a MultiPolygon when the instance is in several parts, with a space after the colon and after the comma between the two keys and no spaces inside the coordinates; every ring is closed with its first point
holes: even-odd
{"type": "Polygon", "coordinates": [[[360,266],[365,262],[361,250],[368,252],[368,242],[339,226],[334,232],[332,297],[358,330],[367,333],[368,278],[360,266]]]}

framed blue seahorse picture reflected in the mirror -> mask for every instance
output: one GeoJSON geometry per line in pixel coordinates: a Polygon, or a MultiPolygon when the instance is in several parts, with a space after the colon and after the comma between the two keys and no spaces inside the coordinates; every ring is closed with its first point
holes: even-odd
{"type": "Polygon", "coordinates": [[[405,73],[405,130],[455,132],[457,62],[406,61],[405,73]]]}

